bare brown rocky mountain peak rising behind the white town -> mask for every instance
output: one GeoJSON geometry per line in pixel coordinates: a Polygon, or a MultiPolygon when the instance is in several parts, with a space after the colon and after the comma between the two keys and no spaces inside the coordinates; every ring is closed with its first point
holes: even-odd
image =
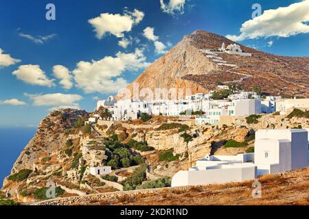
{"type": "MultiPolygon", "coordinates": [[[[222,66],[203,53],[205,49],[219,49],[222,42],[235,43],[206,31],[194,31],[151,64],[133,83],[139,83],[140,90],[192,88],[196,93],[216,90],[220,82],[233,83],[245,90],[262,86],[265,94],[309,96],[309,57],[283,57],[241,45],[243,51],[253,54],[252,57],[220,53],[220,59],[237,67],[222,66]]],[[[133,83],[128,86],[131,92],[133,83]]]]}

